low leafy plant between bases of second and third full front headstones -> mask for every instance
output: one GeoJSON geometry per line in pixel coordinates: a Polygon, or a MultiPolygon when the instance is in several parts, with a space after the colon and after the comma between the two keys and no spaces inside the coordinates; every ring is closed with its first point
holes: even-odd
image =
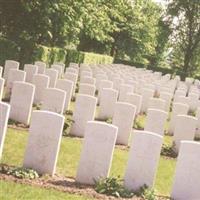
{"type": "Polygon", "coordinates": [[[104,178],[95,181],[95,191],[115,197],[131,198],[134,193],[124,188],[122,180],[119,178],[104,178]]]}

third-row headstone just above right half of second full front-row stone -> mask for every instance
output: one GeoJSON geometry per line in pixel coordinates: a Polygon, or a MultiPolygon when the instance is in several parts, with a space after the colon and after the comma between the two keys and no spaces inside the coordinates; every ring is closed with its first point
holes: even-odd
{"type": "Polygon", "coordinates": [[[102,89],[98,115],[99,119],[107,119],[113,117],[117,97],[117,90],[108,88],[102,89]]]}

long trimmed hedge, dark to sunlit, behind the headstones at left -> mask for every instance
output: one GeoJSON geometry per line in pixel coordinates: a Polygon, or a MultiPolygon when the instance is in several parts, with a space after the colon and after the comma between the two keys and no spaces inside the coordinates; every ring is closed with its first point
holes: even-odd
{"type": "MultiPolygon", "coordinates": [[[[31,47],[29,47],[28,50],[30,50],[30,48],[31,47]]],[[[0,64],[4,65],[5,60],[8,59],[18,60],[22,65],[25,63],[33,63],[38,60],[43,61],[49,65],[54,62],[63,62],[66,64],[66,66],[68,66],[70,62],[75,62],[79,64],[113,63],[113,57],[102,54],[82,52],[57,47],[46,47],[43,45],[36,45],[31,49],[31,55],[24,55],[25,58],[22,55],[20,57],[20,49],[14,42],[4,38],[0,38],[0,64]]],[[[26,51],[24,53],[26,54],[26,51]]]]}

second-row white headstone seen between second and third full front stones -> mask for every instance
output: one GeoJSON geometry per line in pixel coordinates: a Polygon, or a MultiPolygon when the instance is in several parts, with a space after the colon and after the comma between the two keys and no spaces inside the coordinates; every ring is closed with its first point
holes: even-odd
{"type": "Polygon", "coordinates": [[[112,124],[118,127],[117,144],[128,145],[129,137],[133,127],[136,106],[117,102],[113,115],[112,124]]]}

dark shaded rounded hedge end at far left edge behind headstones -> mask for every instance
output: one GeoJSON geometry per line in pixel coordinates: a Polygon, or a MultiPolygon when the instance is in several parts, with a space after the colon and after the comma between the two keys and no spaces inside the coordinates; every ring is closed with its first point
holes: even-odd
{"type": "Polygon", "coordinates": [[[0,37],[0,65],[4,66],[5,60],[19,60],[19,48],[13,41],[0,37]]]}

